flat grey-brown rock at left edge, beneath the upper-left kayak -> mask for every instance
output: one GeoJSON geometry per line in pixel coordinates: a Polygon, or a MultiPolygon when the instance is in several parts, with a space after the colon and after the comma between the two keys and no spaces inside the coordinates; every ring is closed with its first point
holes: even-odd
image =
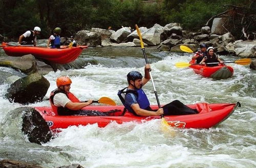
{"type": "Polygon", "coordinates": [[[0,57],[0,66],[11,67],[23,73],[33,73],[37,71],[35,58],[31,54],[22,57],[0,57]]]}

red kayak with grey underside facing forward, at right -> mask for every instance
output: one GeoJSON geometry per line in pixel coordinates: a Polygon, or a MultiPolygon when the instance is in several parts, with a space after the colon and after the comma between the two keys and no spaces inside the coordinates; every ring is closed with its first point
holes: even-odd
{"type": "MultiPolygon", "coordinates": [[[[195,60],[191,60],[189,64],[195,64],[195,60]]],[[[226,79],[233,75],[233,68],[226,65],[218,65],[214,67],[207,67],[204,65],[190,65],[196,74],[200,74],[204,77],[211,77],[214,79],[226,79]]]]}

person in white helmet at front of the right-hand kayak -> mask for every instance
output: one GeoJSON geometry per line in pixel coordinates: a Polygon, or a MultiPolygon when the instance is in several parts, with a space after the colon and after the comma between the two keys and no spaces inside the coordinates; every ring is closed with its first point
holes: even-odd
{"type": "MultiPolygon", "coordinates": [[[[207,55],[203,58],[200,64],[206,65],[207,63],[216,63],[219,62],[223,64],[223,61],[214,53],[214,47],[207,48],[207,55]]],[[[207,64],[208,67],[218,66],[218,64],[207,64]]]]}

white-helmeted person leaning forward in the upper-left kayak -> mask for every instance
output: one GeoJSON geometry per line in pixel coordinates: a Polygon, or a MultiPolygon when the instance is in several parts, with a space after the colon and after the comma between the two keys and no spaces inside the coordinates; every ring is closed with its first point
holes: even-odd
{"type": "Polygon", "coordinates": [[[36,46],[36,36],[41,32],[40,27],[35,26],[34,31],[27,31],[18,38],[18,45],[34,45],[36,46]]]}

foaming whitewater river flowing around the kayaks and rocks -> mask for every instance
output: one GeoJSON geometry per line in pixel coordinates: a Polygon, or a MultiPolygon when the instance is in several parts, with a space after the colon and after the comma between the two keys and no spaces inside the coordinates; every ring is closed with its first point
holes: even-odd
{"type": "MultiPolygon", "coordinates": [[[[176,68],[177,62],[189,62],[191,54],[158,52],[146,47],[152,75],[161,104],[180,100],[185,104],[197,102],[236,103],[242,106],[223,123],[210,129],[175,129],[176,136],[168,136],[160,129],[159,120],[122,125],[115,122],[104,128],[97,124],[69,127],[55,135],[49,143],[37,145],[17,135],[20,129],[11,120],[10,110],[23,106],[9,102],[4,95],[9,85],[0,85],[0,160],[14,159],[57,167],[79,163],[84,167],[256,167],[256,71],[249,66],[230,64],[231,78],[212,80],[194,73],[189,68],[176,68]]],[[[4,52],[0,50],[1,57],[4,52]]],[[[91,58],[97,65],[82,69],[50,72],[46,95],[55,89],[58,76],[72,79],[71,92],[80,100],[102,96],[121,104],[117,91],[126,87],[126,74],[132,70],[144,71],[144,58],[139,47],[88,48],[82,58],[91,58]]],[[[241,59],[221,55],[226,61],[241,59]]],[[[10,68],[0,67],[7,73],[10,68]]],[[[19,75],[24,75],[19,73],[19,75]]],[[[157,104],[151,82],[144,86],[151,104],[157,104]]],[[[42,101],[29,106],[49,106],[42,101]]]]}

